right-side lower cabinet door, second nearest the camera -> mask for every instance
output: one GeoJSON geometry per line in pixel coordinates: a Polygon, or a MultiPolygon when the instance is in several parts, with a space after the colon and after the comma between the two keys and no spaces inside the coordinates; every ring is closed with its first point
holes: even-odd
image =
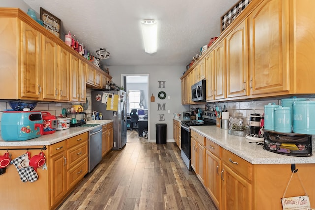
{"type": "Polygon", "coordinates": [[[221,209],[221,160],[206,150],[206,189],[218,209],[221,209]]]}

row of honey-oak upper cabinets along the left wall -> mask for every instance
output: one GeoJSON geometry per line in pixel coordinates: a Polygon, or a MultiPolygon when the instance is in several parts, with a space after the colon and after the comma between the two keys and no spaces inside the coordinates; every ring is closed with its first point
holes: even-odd
{"type": "Polygon", "coordinates": [[[86,69],[78,68],[79,61],[94,70],[94,87],[102,88],[103,75],[111,80],[18,8],[0,8],[0,36],[0,83],[7,87],[0,99],[85,101],[86,69]]]}

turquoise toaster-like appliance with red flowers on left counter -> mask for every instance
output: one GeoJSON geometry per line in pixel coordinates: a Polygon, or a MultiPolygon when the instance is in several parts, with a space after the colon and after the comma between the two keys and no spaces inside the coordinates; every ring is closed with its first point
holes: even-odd
{"type": "Polygon", "coordinates": [[[1,135],[5,141],[24,141],[44,134],[40,111],[4,111],[1,135]]]}

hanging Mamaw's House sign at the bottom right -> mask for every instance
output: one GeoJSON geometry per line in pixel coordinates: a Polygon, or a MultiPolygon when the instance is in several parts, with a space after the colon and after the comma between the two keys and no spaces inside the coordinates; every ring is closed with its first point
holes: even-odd
{"type": "Polygon", "coordinates": [[[309,210],[311,208],[307,195],[282,198],[281,203],[283,210],[309,210]]]}

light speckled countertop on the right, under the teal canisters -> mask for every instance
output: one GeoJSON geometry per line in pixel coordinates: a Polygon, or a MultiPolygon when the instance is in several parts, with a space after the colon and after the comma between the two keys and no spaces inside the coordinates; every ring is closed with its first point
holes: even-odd
{"type": "MultiPolygon", "coordinates": [[[[217,143],[222,148],[238,155],[252,164],[291,164],[291,163],[315,163],[315,156],[293,157],[276,154],[262,148],[262,145],[249,143],[248,139],[241,136],[228,134],[228,130],[216,126],[190,126],[191,130],[217,143]]],[[[314,145],[313,140],[312,144],[314,145]]],[[[312,148],[315,154],[315,148],[312,148]]]]}

